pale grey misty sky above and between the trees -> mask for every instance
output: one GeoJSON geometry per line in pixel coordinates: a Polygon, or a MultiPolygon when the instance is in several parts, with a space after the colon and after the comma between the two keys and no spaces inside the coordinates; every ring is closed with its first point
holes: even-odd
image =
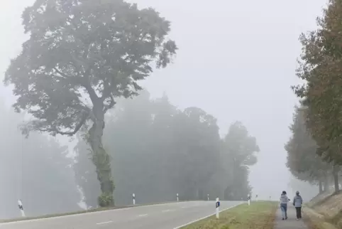
{"type": "MultiPolygon", "coordinates": [[[[175,63],[143,83],[153,97],[166,92],[180,108],[197,106],[214,115],[221,134],[240,120],[261,149],[250,183],[262,198],[287,189],[284,144],[293,107],[290,85],[301,46],[299,33],[316,27],[326,0],[131,0],[152,6],[172,21],[180,50],[175,63]]],[[[26,36],[21,13],[33,0],[4,0],[0,7],[0,72],[26,36]]],[[[11,91],[1,95],[12,102],[11,91]]]]}

